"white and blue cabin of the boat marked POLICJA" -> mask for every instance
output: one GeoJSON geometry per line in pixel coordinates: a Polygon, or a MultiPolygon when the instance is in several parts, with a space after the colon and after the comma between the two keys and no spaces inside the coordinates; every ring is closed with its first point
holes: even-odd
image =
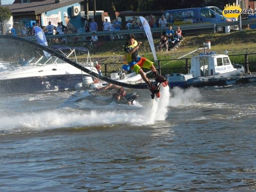
{"type": "Polygon", "coordinates": [[[214,52],[200,53],[191,59],[190,74],[193,77],[218,75],[236,70],[228,55],[219,55],[214,52]]]}

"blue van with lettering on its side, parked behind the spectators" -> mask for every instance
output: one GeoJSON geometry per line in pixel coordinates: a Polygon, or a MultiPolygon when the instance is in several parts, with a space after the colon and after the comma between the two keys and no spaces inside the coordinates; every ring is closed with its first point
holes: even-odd
{"type": "MultiPolygon", "coordinates": [[[[203,8],[183,8],[164,11],[164,16],[168,25],[188,25],[206,24],[237,21],[237,18],[226,18],[222,15],[222,10],[217,7],[203,8]]],[[[233,30],[238,30],[238,26],[230,26],[233,30]]],[[[218,26],[218,32],[224,31],[224,27],[218,26]]]]}

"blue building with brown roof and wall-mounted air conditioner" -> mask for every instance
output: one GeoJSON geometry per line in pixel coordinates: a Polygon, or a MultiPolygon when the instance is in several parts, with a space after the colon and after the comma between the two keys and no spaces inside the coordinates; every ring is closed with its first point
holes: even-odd
{"type": "MultiPolygon", "coordinates": [[[[12,12],[13,23],[19,26],[32,27],[38,23],[44,27],[51,21],[57,26],[58,22],[70,25],[73,32],[81,31],[84,21],[81,19],[81,5],[83,0],[15,0],[7,6],[12,12]],[[26,2],[26,3],[25,3],[26,2]]],[[[11,25],[11,22],[9,22],[11,25]]],[[[12,26],[6,26],[10,28],[12,26]]],[[[8,30],[8,29],[7,29],[8,30]]]]}

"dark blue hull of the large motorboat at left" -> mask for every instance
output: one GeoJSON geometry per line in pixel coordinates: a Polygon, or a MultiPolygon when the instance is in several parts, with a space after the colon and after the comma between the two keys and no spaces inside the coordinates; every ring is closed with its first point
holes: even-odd
{"type": "Polygon", "coordinates": [[[75,85],[81,82],[81,73],[6,79],[0,80],[0,93],[6,94],[74,90],[75,85]]]}

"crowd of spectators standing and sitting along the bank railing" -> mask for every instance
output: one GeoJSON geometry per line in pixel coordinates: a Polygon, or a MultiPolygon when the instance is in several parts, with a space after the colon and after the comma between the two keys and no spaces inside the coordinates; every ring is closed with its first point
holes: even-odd
{"type": "MultiPolygon", "coordinates": [[[[65,20],[65,22],[67,24],[66,26],[63,24],[62,21],[58,22],[57,26],[52,25],[51,21],[49,21],[48,25],[46,25],[45,27],[42,27],[45,34],[46,35],[54,35],[54,34],[65,34],[65,33],[77,32],[75,27],[70,22],[68,22],[69,18],[67,16],[67,14],[66,15],[64,14],[64,18],[67,19],[67,22],[65,20]]],[[[169,29],[166,30],[168,23],[167,23],[164,15],[162,15],[159,18],[158,22],[156,21],[155,16],[152,14],[150,14],[149,16],[146,16],[145,18],[150,27],[153,28],[153,27],[158,26],[160,28],[164,28],[163,30],[161,30],[161,32],[163,32],[165,34],[161,35],[160,41],[157,46],[157,50],[168,51],[169,47],[172,44],[179,42],[180,39],[182,38],[182,30],[180,29],[179,26],[175,32],[172,29],[172,26],[169,26],[169,29]],[[165,30],[166,30],[166,32],[165,32],[165,30]]],[[[27,30],[26,27],[23,27],[21,32],[18,32],[16,25],[14,24],[13,27],[10,29],[9,33],[14,36],[35,35],[34,27],[39,26],[39,24],[33,23],[32,25],[33,26],[32,26],[31,30],[27,30]]],[[[127,30],[142,29],[142,28],[143,28],[143,25],[142,25],[140,19],[135,16],[133,16],[132,19],[128,19],[128,22],[125,25],[125,29],[127,29],[127,30]]],[[[85,33],[91,33],[91,37],[86,38],[86,41],[91,42],[91,45],[94,45],[94,46],[98,45],[98,36],[97,36],[98,31],[102,30],[102,31],[108,32],[108,31],[119,31],[121,29],[124,29],[124,27],[122,26],[122,23],[118,17],[116,17],[115,19],[113,19],[111,21],[109,21],[108,18],[105,18],[105,21],[102,24],[102,28],[101,28],[101,26],[98,25],[98,23],[93,18],[91,19],[91,22],[88,22],[86,20],[84,22],[84,26],[83,26],[83,31],[85,33]]],[[[120,33],[117,33],[115,36],[111,36],[109,34],[104,35],[104,41],[112,41],[114,39],[123,39],[123,38],[124,38],[124,36],[120,33]]],[[[60,38],[54,39],[55,42],[58,42],[60,40],[64,40],[64,39],[60,39],[60,38]]]]}

